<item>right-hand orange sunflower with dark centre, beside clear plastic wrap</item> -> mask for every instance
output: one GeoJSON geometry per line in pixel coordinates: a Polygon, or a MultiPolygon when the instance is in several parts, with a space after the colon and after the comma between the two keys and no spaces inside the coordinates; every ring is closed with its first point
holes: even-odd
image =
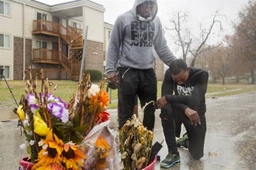
{"type": "Polygon", "coordinates": [[[83,167],[82,159],[86,159],[86,156],[79,151],[77,147],[78,145],[75,145],[74,143],[64,144],[62,156],[67,169],[71,168],[73,170],[78,170],[83,167]]]}

